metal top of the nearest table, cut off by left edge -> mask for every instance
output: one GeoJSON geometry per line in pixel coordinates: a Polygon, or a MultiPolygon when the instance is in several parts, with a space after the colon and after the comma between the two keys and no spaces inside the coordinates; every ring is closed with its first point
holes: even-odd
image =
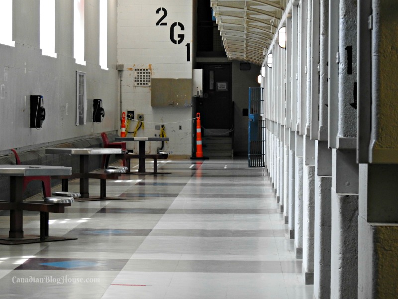
{"type": "Polygon", "coordinates": [[[36,175],[71,175],[71,174],[72,174],[72,167],[0,164],[0,175],[36,176],[36,175]]]}

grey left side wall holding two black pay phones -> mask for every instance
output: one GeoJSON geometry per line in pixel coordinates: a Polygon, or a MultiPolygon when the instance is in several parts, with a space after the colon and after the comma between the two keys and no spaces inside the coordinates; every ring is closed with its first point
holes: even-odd
{"type": "Polygon", "coordinates": [[[73,58],[73,1],[56,1],[57,58],[43,56],[39,48],[39,5],[39,0],[14,0],[15,46],[0,44],[0,153],[98,135],[119,127],[116,0],[108,0],[108,70],[99,64],[99,1],[85,1],[85,66],[76,64],[73,58]],[[87,123],[82,126],[76,126],[76,71],[85,72],[87,78],[87,123]],[[30,95],[44,97],[46,119],[40,130],[29,128],[30,95]],[[100,124],[92,122],[93,99],[103,101],[105,118],[100,124]]]}

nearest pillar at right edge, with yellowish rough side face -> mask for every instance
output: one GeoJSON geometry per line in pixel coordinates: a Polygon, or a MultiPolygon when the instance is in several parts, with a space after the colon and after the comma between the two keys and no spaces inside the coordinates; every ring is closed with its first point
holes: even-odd
{"type": "Polygon", "coordinates": [[[358,298],[398,294],[397,10],[358,2],[358,298]]]}

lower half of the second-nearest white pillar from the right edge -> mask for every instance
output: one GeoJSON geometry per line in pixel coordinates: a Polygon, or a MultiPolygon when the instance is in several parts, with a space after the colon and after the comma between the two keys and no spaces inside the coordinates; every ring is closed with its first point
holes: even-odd
{"type": "Polygon", "coordinates": [[[358,293],[358,164],[356,150],[332,149],[331,299],[358,293]]]}

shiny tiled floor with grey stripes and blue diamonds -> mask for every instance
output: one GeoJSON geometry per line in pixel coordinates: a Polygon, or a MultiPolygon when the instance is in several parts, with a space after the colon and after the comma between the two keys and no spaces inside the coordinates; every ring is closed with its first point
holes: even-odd
{"type": "MultiPolygon", "coordinates": [[[[107,194],[126,200],[50,214],[50,235],[76,240],[0,245],[0,298],[312,299],[264,168],[246,159],[158,168],[172,173],[108,181],[107,194]]],[[[2,235],[8,219],[0,214],[2,235]]],[[[38,234],[37,213],[24,232],[38,234]]]]}

